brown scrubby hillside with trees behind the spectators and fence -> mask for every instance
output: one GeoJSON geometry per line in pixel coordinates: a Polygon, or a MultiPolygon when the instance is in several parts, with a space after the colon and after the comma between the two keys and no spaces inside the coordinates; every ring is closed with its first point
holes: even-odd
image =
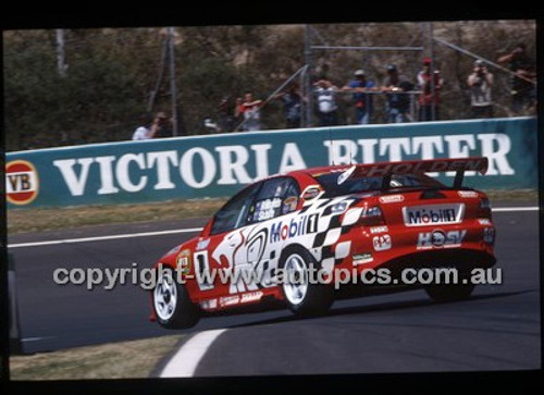
{"type": "MultiPolygon", "coordinates": [[[[445,81],[441,118],[469,118],[467,76],[474,59],[428,39],[422,23],[311,25],[314,44],[323,46],[422,46],[421,51],[312,51],[312,72],[337,86],[356,69],[379,85],[386,65],[395,64],[412,82],[423,54],[432,49],[445,81]]],[[[536,59],[534,21],[434,22],[433,35],[496,62],[524,42],[536,59]]],[[[7,150],[22,150],[131,139],[141,116],[171,113],[165,27],[63,30],[63,67],[54,29],[3,32],[4,131],[7,150]]],[[[265,99],[306,61],[304,25],[176,26],[174,63],[180,135],[213,133],[222,98],[251,90],[265,99]]],[[[509,76],[495,75],[495,116],[511,116],[509,76]]],[[[380,100],[378,100],[380,101],[380,100]]],[[[341,102],[341,121],[350,123],[350,97],[341,102]]],[[[380,111],[380,106],[378,108],[380,111]]],[[[284,125],[282,104],[262,109],[262,128],[284,125]]],[[[383,122],[376,114],[374,123],[383,122]]]]}

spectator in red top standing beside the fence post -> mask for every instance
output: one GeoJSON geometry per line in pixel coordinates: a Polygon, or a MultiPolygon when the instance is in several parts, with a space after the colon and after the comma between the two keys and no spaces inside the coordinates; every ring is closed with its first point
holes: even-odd
{"type": "Polygon", "coordinates": [[[419,97],[419,121],[434,121],[440,119],[440,91],[443,85],[444,81],[440,71],[435,70],[431,72],[431,58],[424,58],[423,70],[418,73],[418,86],[421,90],[419,97]]]}

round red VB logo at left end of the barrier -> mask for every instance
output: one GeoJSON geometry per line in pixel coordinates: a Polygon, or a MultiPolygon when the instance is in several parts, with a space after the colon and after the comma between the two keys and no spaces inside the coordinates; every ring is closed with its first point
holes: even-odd
{"type": "Polygon", "coordinates": [[[38,196],[38,172],[30,162],[14,160],[5,165],[5,197],[13,205],[28,205],[38,196]]]}

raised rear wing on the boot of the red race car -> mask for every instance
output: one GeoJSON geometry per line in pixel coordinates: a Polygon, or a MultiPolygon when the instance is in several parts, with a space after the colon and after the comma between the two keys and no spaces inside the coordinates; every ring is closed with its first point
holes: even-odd
{"type": "Polygon", "coordinates": [[[382,189],[387,189],[393,174],[455,172],[454,188],[460,188],[466,171],[478,171],[480,174],[485,174],[487,165],[487,158],[484,157],[379,162],[356,164],[349,177],[382,176],[382,189]]]}

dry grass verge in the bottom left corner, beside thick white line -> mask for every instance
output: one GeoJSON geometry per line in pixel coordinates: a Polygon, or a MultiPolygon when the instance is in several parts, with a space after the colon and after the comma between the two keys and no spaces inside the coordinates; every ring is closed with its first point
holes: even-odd
{"type": "Polygon", "coordinates": [[[146,379],[184,335],[10,357],[11,380],[146,379]]]}

